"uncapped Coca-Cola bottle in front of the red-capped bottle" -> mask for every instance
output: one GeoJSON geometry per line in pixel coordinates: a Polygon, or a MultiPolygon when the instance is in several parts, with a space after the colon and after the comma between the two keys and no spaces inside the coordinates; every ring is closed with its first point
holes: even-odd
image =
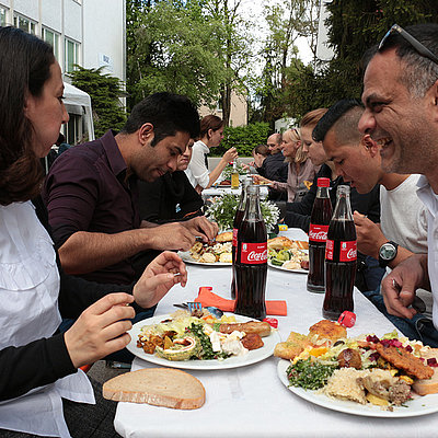
{"type": "Polygon", "coordinates": [[[344,310],[354,310],[356,264],[356,228],[349,203],[349,186],[339,185],[325,246],[325,297],[322,307],[325,319],[337,321],[344,310]]]}

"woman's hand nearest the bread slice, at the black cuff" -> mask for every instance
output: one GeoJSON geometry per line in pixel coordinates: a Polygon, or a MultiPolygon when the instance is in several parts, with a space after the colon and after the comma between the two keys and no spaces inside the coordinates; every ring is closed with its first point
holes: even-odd
{"type": "Polygon", "coordinates": [[[76,368],[126,347],[130,341],[126,332],[132,326],[129,320],[136,315],[128,306],[132,301],[128,293],[108,293],[82,312],[64,337],[76,368]]]}

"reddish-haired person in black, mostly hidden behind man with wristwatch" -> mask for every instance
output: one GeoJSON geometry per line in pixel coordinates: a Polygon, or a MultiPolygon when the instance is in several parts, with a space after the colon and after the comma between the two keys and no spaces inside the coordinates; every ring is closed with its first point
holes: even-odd
{"type": "MultiPolygon", "coordinates": [[[[336,191],[342,184],[346,184],[342,176],[337,175],[335,165],[328,160],[322,141],[316,141],[312,132],[318,128],[319,123],[327,113],[326,108],[318,108],[306,114],[300,124],[301,138],[304,150],[308,150],[309,158],[314,165],[321,165],[320,171],[313,180],[310,191],[299,203],[288,203],[285,223],[289,227],[298,227],[309,232],[310,216],[312,214],[313,201],[316,197],[316,182],[319,177],[328,177],[331,181],[328,195],[333,208],[336,205],[336,191]]],[[[359,194],[355,187],[350,192],[351,210],[359,211],[373,222],[380,221],[379,185],[376,185],[370,193],[359,194]]],[[[384,270],[379,267],[377,261],[365,254],[358,253],[356,272],[356,287],[360,291],[374,290],[382,278],[384,270]]]]}

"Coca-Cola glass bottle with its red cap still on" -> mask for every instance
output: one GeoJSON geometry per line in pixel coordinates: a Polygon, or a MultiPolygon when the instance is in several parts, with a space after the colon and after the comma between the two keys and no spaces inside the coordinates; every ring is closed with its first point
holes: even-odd
{"type": "Polygon", "coordinates": [[[324,293],[325,241],[332,219],[332,203],[328,197],[330,178],[318,178],[316,197],[313,203],[309,227],[308,290],[324,293]]]}

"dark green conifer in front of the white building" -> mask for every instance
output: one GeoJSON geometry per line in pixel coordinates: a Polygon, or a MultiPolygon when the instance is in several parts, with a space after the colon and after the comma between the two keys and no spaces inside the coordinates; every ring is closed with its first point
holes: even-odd
{"type": "Polygon", "coordinates": [[[120,105],[123,95],[122,82],[118,78],[102,73],[102,69],[84,69],[69,73],[74,87],[83,90],[91,96],[93,110],[94,132],[101,137],[108,129],[119,130],[126,122],[126,113],[120,105]]]}

